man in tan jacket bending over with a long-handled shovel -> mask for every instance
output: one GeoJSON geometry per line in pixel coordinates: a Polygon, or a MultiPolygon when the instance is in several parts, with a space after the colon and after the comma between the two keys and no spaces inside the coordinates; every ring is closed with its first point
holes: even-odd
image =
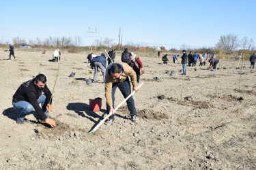
{"type": "MultiPolygon", "coordinates": [[[[107,113],[112,113],[109,117],[109,120],[104,122],[106,125],[110,125],[115,122],[115,112],[114,112],[114,103],[115,103],[115,90],[117,87],[122,92],[124,98],[128,97],[131,94],[130,91],[130,82],[132,82],[133,90],[137,92],[139,88],[136,85],[136,74],[135,71],[127,65],[126,63],[112,63],[109,67],[106,68],[106,83],[105,83],[105,96],[106,96],[106,111],[107,113]]],[[[132,96],[126,101],[128,105],[128,110],[130,112],[131,120],[134,123],[139,122],[137,119],[135,104],[132,96]]]]}

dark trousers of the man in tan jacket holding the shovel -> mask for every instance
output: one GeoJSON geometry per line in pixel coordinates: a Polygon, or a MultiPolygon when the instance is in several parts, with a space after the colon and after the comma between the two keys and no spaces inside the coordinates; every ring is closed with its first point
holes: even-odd
{"type": "MultiPolygon", "coordinates": [[[[119,88],[119,90],[122,92],[122,95],[124,96],[124,98],[128,97],[128,95],[130,95],[130,82],[129,82],[129,78],[127,77],[126,80],[124,80],[124,82],[119,82],[119,83],[113,83],[112,84],[112,102],[113,102],[113,108],[114,108],[114,104],[115,104],[115,90],[117,90],[117,87],[119,88]]],[[[130,112],[130,116],[136,115],[136,109],[135,109],[135,104],[134,104],[134,100],[133,97],[131,96],[127,101],[127,106],[128,106],[128,110],[130,112]]],[[[109,110],[110,107],[108,104],[106,104],[106,112],[109,114],[109,110]]],[[[115,114],[113,114],[111,116],[111,118],[114,118],[115,114]]]]}

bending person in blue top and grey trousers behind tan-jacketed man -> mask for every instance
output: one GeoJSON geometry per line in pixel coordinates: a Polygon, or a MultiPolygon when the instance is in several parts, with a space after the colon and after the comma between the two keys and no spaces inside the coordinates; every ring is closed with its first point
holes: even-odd
{"type": "Polygon", "coordinates": [[[100,68],[103,75],[103,83],[105,82],[106,75],[106,56],[102,53],[100,56],[96,56],[91,59],[91,67],[94,67],[94,83],[98,82],[98,68],[100,68]]]}

